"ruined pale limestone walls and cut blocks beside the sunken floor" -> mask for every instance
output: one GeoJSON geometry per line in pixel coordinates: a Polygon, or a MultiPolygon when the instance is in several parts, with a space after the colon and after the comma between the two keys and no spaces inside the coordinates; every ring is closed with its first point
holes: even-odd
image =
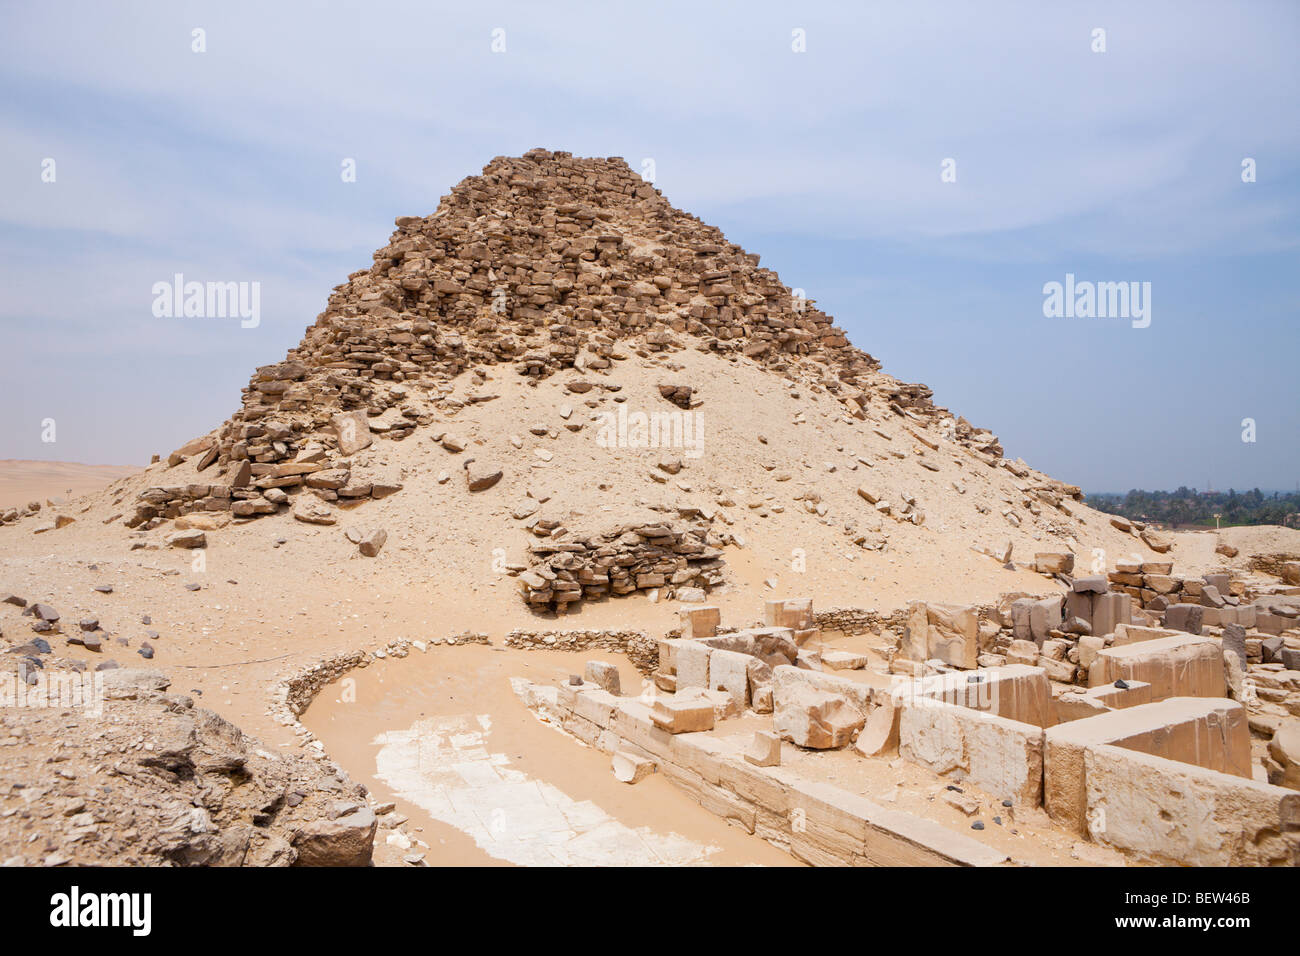
{"type": "Polygon", "coordinates": [[[814,864],[1006,855],[979,839],[983,821],[959,832],[884,806],[816,761],[788,766],[786,748],[850,750],[881,773],[901,758],[985,804],[1043,808],[1134,861],[1300,862],[1296,722],[1279,717],[1300,708],[1300,597],[1226,574],[1182,580],[1167,562],[1069,579],[1070,555],[1039,557],[1065,594],[913,604],[887,666],[823,644],[810,600],[767,601],[764,626],[749,628],[697,606],[659,641],[641,693],[592,665],[529,700],[611,753],[620,779],[663,773],[814,864]],[[746,715],[770,724],[728,730],[746,715]]]}

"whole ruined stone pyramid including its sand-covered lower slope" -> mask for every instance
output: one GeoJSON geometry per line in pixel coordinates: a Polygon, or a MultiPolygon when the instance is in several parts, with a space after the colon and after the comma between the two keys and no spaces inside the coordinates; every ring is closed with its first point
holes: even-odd
{"type": "MultiPolygon", "coordinates": [[[[998,538],[1015,533],[1114,537],[1076,503],[1078,488],[1008,462],[989,431],[936,406],[927,386],[884,373],[811,299],[676,209],[621,159],[546,150],[497,157],[433,215],[399,217],[373,258],[333,290],[296,349],[254,373],[226,423],[168,458],[176,471],[166,483],[150,476],[122,514],[127,527],[148,531],[182,516],[202,527],[195,512],[333,524],[341,509],[398,494],[412,471],[430,470],[428,458],[376,460],[376,449],[413,436],[448,455],[437,484],[447,494],[459,485],[465,501],[503,475],[572,464],[552,464],[546,449],[511,462],[528,455],[525,437],[480,419],[489,403],[524,388],[537,395],[516,398],[521,408],[550,405],[560,419],[528,431],[551,440],[581,433],[590,464],[543,492],[536,481],[497,489],[521,493],[508,518],[500,507],[489,518],[528,536],[526,557],[516,551],[506,567],[534,606],[637,589],[698,600],[727,580],[720,549],[744,544],[729,509],[788,516],[772,492],[745,502],[737,492],[792,477],[780,496],[796,489],[792,510],[867,550],[885,549],[905,525],[920,529],[927,515],[942,519],[937,529],[931,522],[932,536],[959,515],[950,531],[963,551],[1004,555],[1010,541],[998,538]],[[654,393],[633,394],[624,381],[630,369],[650,376],[654,393]],[[762,407],[753,394],[734,407],[719,403],[724,378],[741,372],[744,382],[728,385],[757,392],[762,407]],[[705,395],[712,427],[697,437],[711,442],[711,458],[692,460],[699,449],[686,449],[685,462],[658,454],[641,470],[590,454],[612,444],[654,458],[663,451],[660,425],[689,444],[692,427],[703,431],[690,416],[702,414],[705,395]],[[781,418],[814,425],[803,432],[816,440],[771,436],[777,457],[764,459],[763,415],[792,401],[796,410],[781,418]],[[740,434],[746,428],[751,433],[740,434]],[[780,467],[790,463],[812,473],[780,467]],[[982,466],[976,481],[965,477],[982,466]],[[707,484],[686,480],[692,472],[707,484]],[[619,496],[618,509],[592,514],[593,496],[607,486],[601,473],[636,473],[640,484],[619,496]],[[967,485],[991,496],[963,502],[967,485]],[[935,490],[918,501],[919,488],[935,490]]],[[[520,414],[528,412],[510,416],[520,414]]],[[[386,535],[354,529],[350,537],[377,553],[386,535]]]]}

